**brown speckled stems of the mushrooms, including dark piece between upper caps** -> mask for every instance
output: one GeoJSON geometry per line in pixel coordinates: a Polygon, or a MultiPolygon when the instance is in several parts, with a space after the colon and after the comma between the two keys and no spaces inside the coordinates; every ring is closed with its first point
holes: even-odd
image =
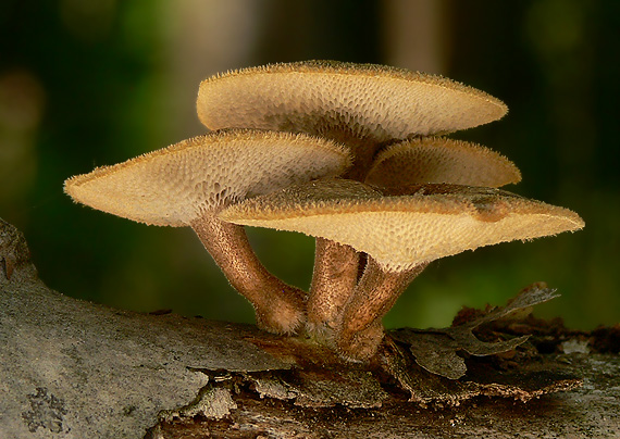
{"type": "MultiPolygon", "coordinates": [[[[363,181],[376,145],[348,142],[354,166],[343,178],[363,181]]],[[[191,227],[204,248],[256,311],[257,324],[275,334],[308,333],[346,359],[372,356],[383,339],[382,317],[424,268],[395,272],[372,256],[325,238],[315,239],[310,291],[286,285],[266,271],[250,247],[244,226],[206,212],[191,227]]]]}

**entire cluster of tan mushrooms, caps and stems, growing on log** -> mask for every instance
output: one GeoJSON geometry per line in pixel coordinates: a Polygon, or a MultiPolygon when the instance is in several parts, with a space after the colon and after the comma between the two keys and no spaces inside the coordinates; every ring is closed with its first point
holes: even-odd
{"type": "Polygon", "coordinates": [[[430,262],[584,225],[498,189],[521,179],[503,155],[443,137],[507,108],[439,76],[273,64],[203,80],[197,110],[210,134],[72,177],[65,191],[134,221],[190,226],[260,327],[306,328],[346,359],[376,352],[382,317],[430,262]],[[270,274],[244,226],[313,236],[310,291],[270,274]]]}

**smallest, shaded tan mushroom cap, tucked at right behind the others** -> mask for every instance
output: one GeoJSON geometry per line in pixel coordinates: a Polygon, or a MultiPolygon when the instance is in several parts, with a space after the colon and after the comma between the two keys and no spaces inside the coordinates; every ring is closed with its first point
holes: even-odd
{"type": "Polygon", "coordinates": [[[365,183],[383,187],[449,183],[496,188],[520,180],[521,173],[504,155],[444,137],[410,139],[387,147],[365,178],[365,183]]]}

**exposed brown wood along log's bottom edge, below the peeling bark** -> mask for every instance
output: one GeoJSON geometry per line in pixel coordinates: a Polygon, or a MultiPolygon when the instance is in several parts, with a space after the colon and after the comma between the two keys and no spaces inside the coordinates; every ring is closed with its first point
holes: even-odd
{"type": "Polygon", "coordinates": [[[420,409],[390,401],[382,409],[343,406],[308,410],[259,399],[235,398],[236,409],[220,421],[164,423],[152,437],[225,438],[618,438],[620,388],[618,355],[570,355],[585,386],[528,403],[478,398],[459,406],[420,409]],[[195,435],[195,436],[191,436],[195,435]]]}

